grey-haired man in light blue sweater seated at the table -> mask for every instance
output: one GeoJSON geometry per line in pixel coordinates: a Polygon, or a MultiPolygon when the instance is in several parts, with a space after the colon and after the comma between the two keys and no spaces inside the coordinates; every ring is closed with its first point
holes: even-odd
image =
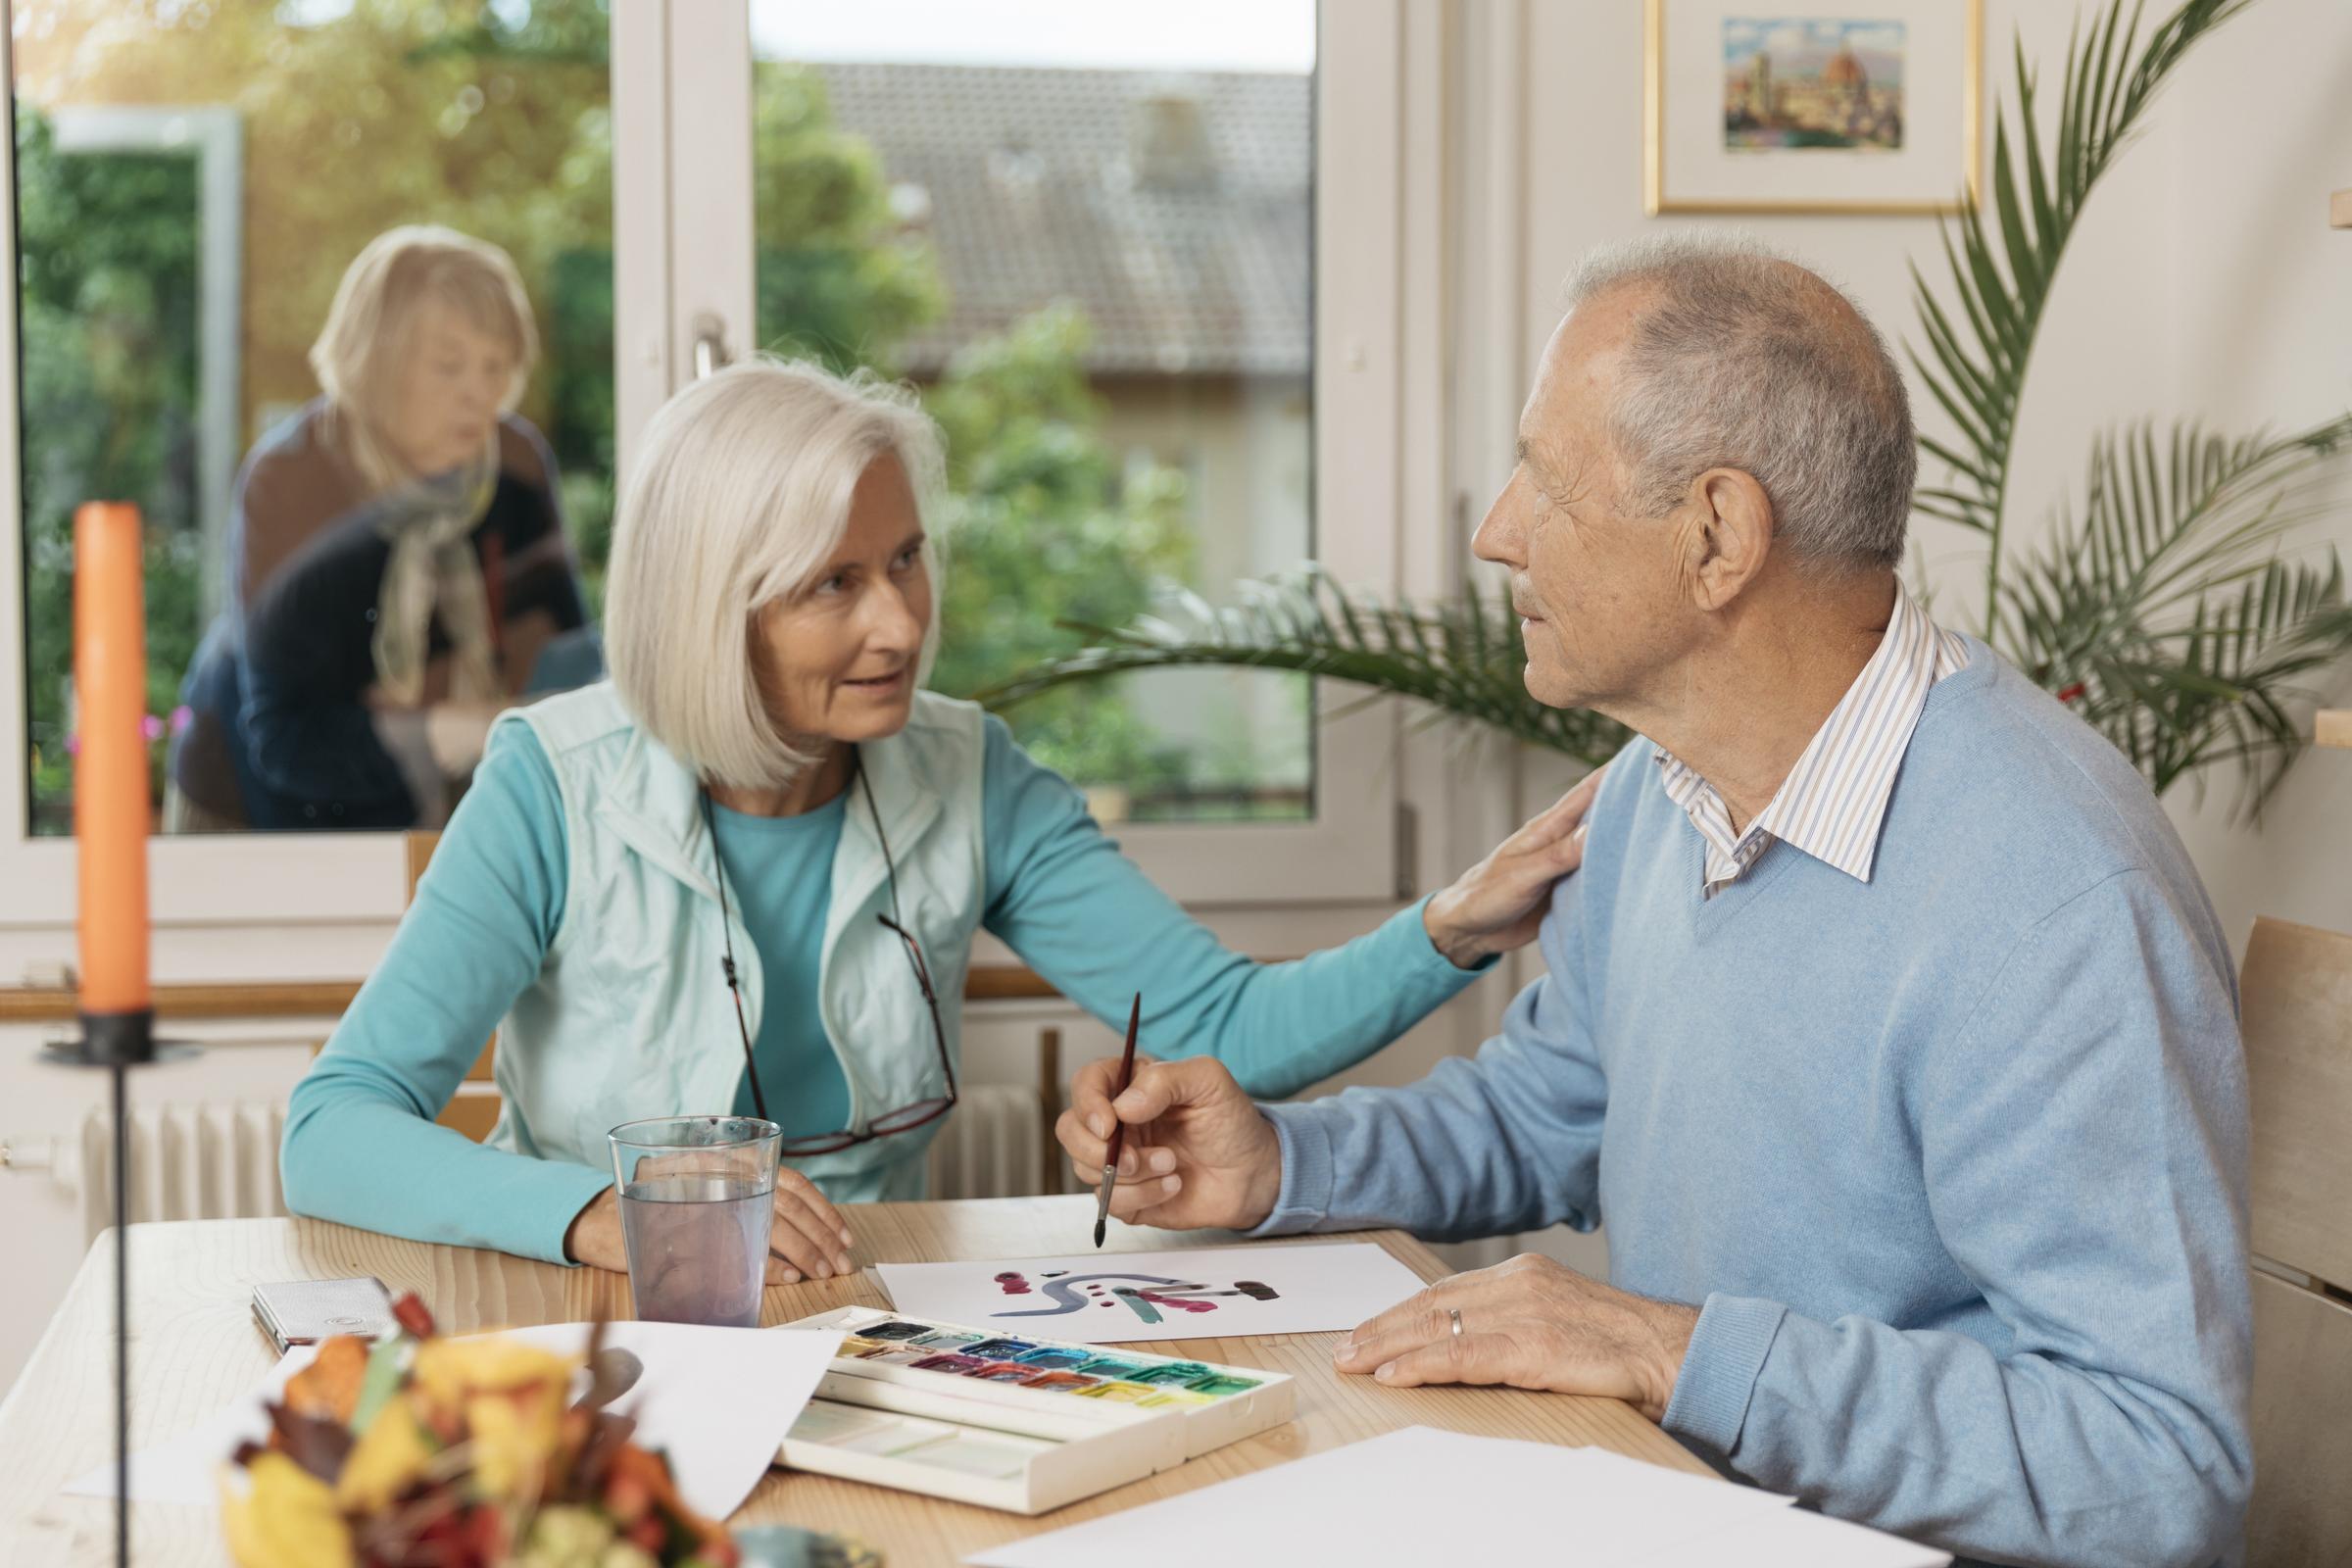
{"type": "MultiPolygon", "coordinates": [[[[1639,731],[1548,976],[1416,1086],[1080,1077],[1115,1213],[1256,1234],[1609,1222],[1359,1326],[1392,1387],[1613,1394],[1717,1467],[2004,1563],[2237,1554],[2251,1479],[2230,950],[2140,778],[1896,581],[1903,381],[1722,240],[1585,266],[1477,534],[1526,686],[1639,731]]],[[[1573,1521],[1562,1530],[1573,1535],[1573,1521]]]]}

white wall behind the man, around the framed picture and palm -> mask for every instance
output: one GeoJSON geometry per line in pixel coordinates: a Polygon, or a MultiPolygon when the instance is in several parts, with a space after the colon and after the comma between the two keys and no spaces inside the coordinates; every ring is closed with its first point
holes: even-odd
{"type": "MultiPolygon", "coordinates": [[[[1990,108],[2013,101],[2011,38],[2042,63],[2042,99],[2077,7],[2034,0],[1985,5],[1990,108]]],[[[2098,9],[2086,5],[2084,9],[2098,9]]],[[[2171,7],[2150,7],[2166,14],[2171,7]]],[[[1463,355],[1524,388],[1557,320],[1559,282],[1588,247],[1665,223],[1642,212],[1642,7],[1571,0],[1465,0],[1472,31],[1501,38],[1472,52],[1468,89],[1486,103],[1486,134],[1517,136],[1517,230],[1477,230],[1517,247],[1517,320],[1489,310],[1486,341],[1463,355]],[[1510,35],[1524,28],[1524,47],[1510,35]],[[1479,61],[1486,61],[1484,73],[1479,61]],[[1522,80],[1512,82],[1510,71],[1522,80]],[[1508,324],[1498,324],[1508,322],[1508,324]],[[1515,327],[1515,331],[1510,331],[1515,327]]],[[[2328,190],[2352,186],[2352,7],[2343,0],[2260,0],[2190,54],[2154,106],[2147,136],[2100,183],[2060,270],[2023,407],[2011,552],[2049,536],[2049,501],[2079,494],[2089,437],[2117,421],[2204,414],[2223,430],[2296,428],[2347,407],[2352,378],[2352,233],[2326,228],[2328,190]]],[[[1842,282],[1882,331],[1924,346],[1907,266],[1943,268],[1933,219],[1745,219],[1769,242],[1842,282]]],[[[1510,268],[1491,268],[1508,275],[1510,268]]],[[[1940,409],[1912,383],[1922,423],[1940,409]]],[[[1472,414],[1465,444],[1501,454],[1510,411],[1472,414]]],[[[2352,548],[2352,496],[2331,529],[2352,548]]],[[[1938,618],[1976,628],[1983,552],[1973,536],[1926,524],[1938,618]]],[[[2352,679],[2338,672],[2343,698],[2352,679]]],[[[1526,799],[1557,785],[1522,783],[1526,799]]],[[[2227,818],[2234,778],[2216,776],[2199,806],[2183,785],[2166,799],[2232,940],[2253,917],[2281,914],[2352,929],[2352,755],[2312,752],[2256,832],[2227,818]]],[[[1592,1239],[1548,1237],[1545,1251],[1597,1267],[1592,1239]]]]}

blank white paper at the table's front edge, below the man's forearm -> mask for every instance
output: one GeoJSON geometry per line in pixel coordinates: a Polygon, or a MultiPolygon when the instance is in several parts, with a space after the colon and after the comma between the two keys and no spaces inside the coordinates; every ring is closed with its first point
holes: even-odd
{"type": "Polygon", "coordinates": [[[1835,1568],[1950,1559],[1802,1514],[1788,1497],[1642,1465],[1602,1448],[1404,1427],[1181,1497],[967,1556],[981,1568],[1294,1568],[1296,1563],[1748,1563],[1750,1540],[1797,1552],[1830,1528],[1835,1568]],[[1853,1542],[1882,1556],[1842,1556],[1853,1542]]]}

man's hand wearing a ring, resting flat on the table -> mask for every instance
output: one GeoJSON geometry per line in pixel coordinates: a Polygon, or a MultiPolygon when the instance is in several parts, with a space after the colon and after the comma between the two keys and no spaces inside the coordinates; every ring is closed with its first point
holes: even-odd
{"type": "Polygon", "coordinates": [[[1409,1389],[1423,1382],[1508,1382],[1552,1394],[1606,1394],[1665,1420],[1698,1307],[1611,1291],[1522,1253],[1439,1279],[1357,1326],[1338,1371],[1409,1389]],[[1463,1331],[1454,1333],[1454,1312],[1463,1331]]]}

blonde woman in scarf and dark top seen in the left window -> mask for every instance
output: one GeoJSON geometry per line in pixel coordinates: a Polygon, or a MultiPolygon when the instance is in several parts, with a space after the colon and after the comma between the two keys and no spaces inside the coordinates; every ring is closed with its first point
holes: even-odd
{"type": "Polygon", "coordinates": [[[379,235],[310,348],[322,397],[238,477],[233,611],[188,675],[167,827],[437,825],[539,649],[581,625],[539,353],[506,252],[379,235]]]}

